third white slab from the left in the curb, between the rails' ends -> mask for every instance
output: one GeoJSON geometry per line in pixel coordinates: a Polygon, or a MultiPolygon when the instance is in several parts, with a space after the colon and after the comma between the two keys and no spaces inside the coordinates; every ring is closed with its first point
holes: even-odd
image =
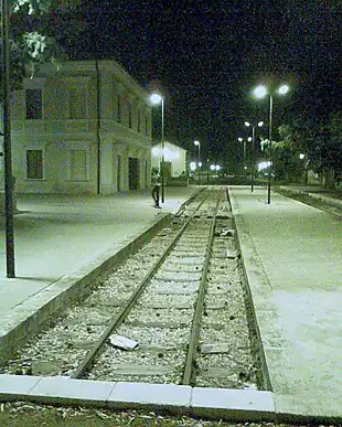
{"type": "Polygon", "coordinates": [[[111,406],[136,404],[189,407],[191,391],[192,387],[188,385],[117,383],[108,401],[111,406]]]}

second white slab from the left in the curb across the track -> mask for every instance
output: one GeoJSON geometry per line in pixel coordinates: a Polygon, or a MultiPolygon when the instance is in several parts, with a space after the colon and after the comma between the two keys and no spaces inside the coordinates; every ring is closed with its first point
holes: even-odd
{"type": "Polygon", "coordinates": [[[115,383],[71,380],[63,376],[43,377],[30,393],[30,396],[46,397],[46,402],[101,403],[105,405],[115,383]]]}

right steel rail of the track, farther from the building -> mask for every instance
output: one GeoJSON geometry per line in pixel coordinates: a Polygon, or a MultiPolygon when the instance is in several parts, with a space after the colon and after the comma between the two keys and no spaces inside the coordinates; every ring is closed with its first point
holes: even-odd
{"type": "Polygon", "coordinates": [[[195,311],[194,311],[192,325],[191,325],[191,335],[190,335],[190,341],[189,341],[189,345],[188,345],[185,367],[184,367],[184,374],[183,374],[183,380],[182,380],[183,385],[191,385],[191,382],[192,382],[193,369],[194,369],[194,364],[195,364],[194,362],[195,362],[195,356],[196,356],[197,346],[199,346],[200,323],[201,323],[202,313],[203,313],[203,302],[204,302],[205,288],[206,288],[207,270],[209,270],[209,265],[210,265],[210,260],[212,257],[212,247],[213,247],[215,225],[216,225],[216,215],[217,215],[220,202],[221,202],[221,191],[218,193],[216,206],[214,210],[214,215],[212,218],[211,232],[210,232],[210,236],[209,236],[209,244],[206,247],[206,254],[205,254],[203,270],[202,270],[202,275],[201,275],[199,296],[196,299],[195,311]]]}

